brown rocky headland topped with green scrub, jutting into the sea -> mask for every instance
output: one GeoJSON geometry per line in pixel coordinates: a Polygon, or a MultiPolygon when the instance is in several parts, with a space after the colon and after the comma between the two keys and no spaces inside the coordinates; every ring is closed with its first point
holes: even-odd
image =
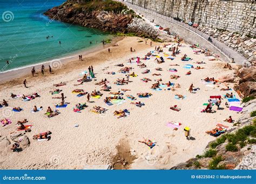
{"type": "Polygon", "coordinates": [[[158,32],[122,3],[113,1],[67,1],[44,14],[52,19],[112,33],[132,33],[156,39],[158,32]],[[79,3],[78,3],[79,2],[79,3]],[[138,19],[140,21],[138,21],[138,19]],[[136,24],[134,24],[136,21],[136,24]],[[139,24],[138,24],[139,23],[139,24]]]}

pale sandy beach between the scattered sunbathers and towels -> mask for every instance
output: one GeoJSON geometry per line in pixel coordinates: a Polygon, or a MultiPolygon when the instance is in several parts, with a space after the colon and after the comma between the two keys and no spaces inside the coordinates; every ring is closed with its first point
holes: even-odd
{"type": "MultiPolygon", "coordinates": [[[[177,163],[184,162],[197,154],[202,154],[208,142],[215,140],[206,131],[212,130],[217,124],[228,126],[228,130],[232,124],[223,120],[230,115],[234,120],[238,119],[239,113],[230,111],[226,106],[226,99],[222,99],[221,106],[223,110],[217,110],[213,106],[214,113],[201,113],[206,106],[210,96],[221,95],[223,97],[226,91],[220,91],[220,88],[226,87],[227,84],[205,84],[201,79],[206,77],[218,77],[225,74],[232,74],[234,70],[223,69],[224,62],[220,60],[208,60],[210,57],[203,53],[194,54],[190,45],[182,43],[179,47],[180,54],[177,54],[173,60],[167,59],[164,53],[168,53],[168,48],[163,48],[164,52],[154,53],[163,57],[165,63],[157,64],[156,56],[151,56],[149,60],[143,60],[150,51],[154,51],[155,46],[163,43],[153,43],[150,46],[150,40],[147,44],[138,42],[142,38],[124,37],[118,40],[119,46],[110,46],[110,53],[105,46],[104,49],[93,51],[88,54],[83,54],[83,61],[73,60],[72,62],[52,64],[53,74],[45,73],[45,77],[31,77],[27,72],[26,76],[17,79],[12,79],[1,85],[0,101],[5,99],[8,101],[9,107],[0,108],[1,118],[9,118],[12,123],[0,128],[0,137],[7,136],[10,133],[17,131],[17,121],[28,119],[26,124],[32,125],[31,132],[26,132],[30,140],[30,145],[21,152],[10,151],[10,146],[5,147],[1,154],[0,168],[1,169],[83,169],[85,165],[112,165],[114,157],[120,154],[117,146],[120,145],[125,152],[131,151],[131,155],[135,160],[129,163],[129,169],[169,169],[177,163]],[[130,47],[136,49],[136,52],[130,52],[130,47]],[[192,58],[188,62],[182,62],[181,57],[184,54],[192,58]],[[140,69],[137,66],[136,60],[130,64],[129,59],[132,57],[140,57],[140,61],[147,67],[140,69]],[[204,69],[185,69],[186,64],[191,64],[194,67],[199,66],[196,62],[205,62],[200,64],[204,69]],[[134,72],[137,77],[130,77],[130,82],[127,85],[116,85],[114,82],[119,78],[126,78],[124,73],[118,72],[121,68],[117,64],[124,64],[124,67],[132,67],[130,73],[134,72]],[[170,66],[178,64],[179,66],[170,66]],[[92,81],[83,85],[78,84],[77,80],[82,77],[79,74],[87,71],[89,66],[93,65],[95,77],[92,81]],[[163,71],[155,70],[161,67],[163,71]],[[145,70],[150,70],[151,73],[143,74],[145,70]],[[169,69],[177,69],[177,72],[170,72],[169,69]],[[186,73],[191,71],[188,76],[186,73]],[[115,72],[116,74],[106,74],[106,72],[115,72]],[[160,76],[152,76],[153,73],[160,73],[160,76]],[[170,79],[172,74],[179,75],[178,79],[170,79]],[[25,88],[22,81],[26,78],[28,88],[25,88]],[[86,103],[86,96],[77,97],[73,94],[75,89],[83,89],[85,92],[91,93],[93,90],[100,90],[101,86],[95,85],[102,79],[109,81],[111,92],[118,92],[122,88],[127,88],[131,91],[123,92],[125,103],[112,106],[107,106],[104,99],[110,96],[110,92],[101,91],[103,96],[100,99],[91,98],[90,103],[86,103]],[[149,78],[151,81],[145,83],[140,80],[149,78]],[[162,79],[160,83],[180,84],[180,88],[175,88],[175,91],[167,90],[169,87],[162,87],[161,91],[152,90],[150,87],[155,80],[162,79]],[[65,82],[65,86],[53,87],[53,84],[65,82]],[[193,84],[195,88],[200,88],[196,93],[190,93],[187,89],[193,84]],[[66,96],[65,102],[69,103],[66,108],[59,108],[60,114],[53,118],[48,118],[44,113],[47,107],[55,109],[55,104],[60,103],[60,99],[52,99],[52,97],[60,96],[60,94],[50,94],[49,91],[59,88],[66,96]],[[12,99],[10,94],[28,95],[37,92],[41,97],[22,101],[21,98],[12,99]],[[150,98],[138,98],[137,93],[152,93],[150,98]],[[137,100],[130,100],[126,95],[132,95],[137,100]],[[175,94],[186,96],[185,99],[174,98],[175,94]],[[137,107],[130,104],[134,101],[141,101],[145,105],[137,107]],[[73,112],[73,107],[78,103],[86,103],[87,107],[81,113],[73,112]],[[43,106],[43,110],[31,113],[33,106],[43,106]],[[177,105],[181,110],[179,112],[170,110],[171,106],[177,105]],[[106,113],[96,114],[90,112],[93,106],[101,106],[107,109],[106,113]],[[11,111],[13,107],[21,107],[22,112],[11,111]],[[127,109],[130,115],[123,119],[118,119],[113,115],[114,111],[127,109]],[[178,130],[173,130],[167,126],[168,122],[180,122],[178,130]],[[75,125],[79,125],[75,127],[75,125]],[[191,139],[187,140],[184,135],[184,128],[191,128],[191,139]],[[32,137],[34,134],[51,131],[51,139],[49,141],[36,141],[32,137]],[[143,138],[156,141],[156,146],[152,149],[138,142],[143,138]]],[[[111,43],[112,45],[113,43],[111,43]]],[[[170,46],[177,43],[165,43],[170,46]]],[[[171,52],[170,52],[171,53],[171,52]]],[[[78,59],[78,58],[76,58],[78,59]]],[[[159,59],[159,58],[158,58],[159,59]]],[[[46,69],[48,69],[46,65],[46,69]]],[[[31,69],[30,69],[31,70],[31,69]]],[[[232,85],[229,85],[231,88],[232,85]]],[[[232,92],[239,98],[234,90],[232,92]]],[[[240,99],[240,98],[239,98],[240,99]]],[[[24,133],[24,132],[23,132],[24,133]]],[[[11,144],[14,142],[11,141],[11,144]]],[[[3,145],[1,145],[4,147],[3,145]]],[[[133,159],[132,159],[133,160],[133,159]]]]}

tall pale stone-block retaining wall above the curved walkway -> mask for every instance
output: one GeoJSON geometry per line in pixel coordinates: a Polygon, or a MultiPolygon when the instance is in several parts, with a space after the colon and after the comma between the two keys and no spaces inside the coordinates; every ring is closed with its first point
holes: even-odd
{"type": "Polygon", "coordinates": [[[255,36],[255,2],[218,0],[126,0],[185,22],[255,36]]]}

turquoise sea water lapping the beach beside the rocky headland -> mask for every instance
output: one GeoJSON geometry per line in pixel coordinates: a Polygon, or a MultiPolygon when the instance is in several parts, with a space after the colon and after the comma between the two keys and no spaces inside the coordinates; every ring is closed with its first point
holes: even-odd
{"type": "Polygon", "coordinates": [[[89,49],[112,37],[96,29],[51,21],[43,15],[63,2],[0,0],[0,73],[89,49]]]}

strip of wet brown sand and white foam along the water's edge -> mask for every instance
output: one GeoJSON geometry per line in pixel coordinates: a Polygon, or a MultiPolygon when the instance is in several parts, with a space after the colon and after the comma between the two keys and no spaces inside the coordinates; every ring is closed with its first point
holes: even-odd
{"type": "Polygon", "coordinates": [[[13,83],[14,81],[16,81],[19,78],[29,77],[29,74],[31,74],[31,68],[33,66],[35,66],[36,72],[38,72],[38,73],[40,73],[42,65],[45,65],[45,70],[48,70],[48,65],[51,65],[53,71],[57,69],[58,72],[61,72],[62,65],[71,65],[71,62],[78,62],[79,60],[77,58],[78,58],[79,54],[82,54],[83,61],[84,61],[87,55],[95,53],[95,52],[101,52],[104,49],[106,49],[106,47],[110,47],[110,46],[118,43],[123,38],[124,37],[119,37],[119,36],[113,35],[112,41],[109,44],[102,45],[101,43],[99,43],[99,45],[96,45],[95,47],[91,47],[90,49],[81,49],[81,50],[67,54],[66,56],[63,56],[60,58],[51,59],[51,60],[47,60],[44,62],[30,64],[30,65],[26,65],[26,66],[22,66],[22,67],[18,67],[15,69],[1,72],[0,73],[0,78],[1,78],[0,84],[4,85],[5,83],[8,83],[8,81],[10,81],[10,80],[13,83]]]}

